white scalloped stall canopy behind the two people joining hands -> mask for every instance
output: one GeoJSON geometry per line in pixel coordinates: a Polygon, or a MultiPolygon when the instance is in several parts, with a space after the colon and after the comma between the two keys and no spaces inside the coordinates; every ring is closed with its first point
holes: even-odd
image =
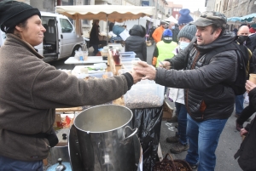
{"type": "Polygon", "coordinates": [[[73,20],[110,20],[123,22],[154,14],[154,7],[123,5],[74,5],[56,6],[56,12],[73,20]],[[107,19],[108,17],[108,19],[107,19]]]}

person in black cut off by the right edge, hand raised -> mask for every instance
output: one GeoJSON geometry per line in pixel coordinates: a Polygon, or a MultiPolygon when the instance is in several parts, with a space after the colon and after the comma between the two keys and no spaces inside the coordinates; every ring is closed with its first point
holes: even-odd
{"type": "MultiPolygon", "coordinates": [[[[249,95],[250,106],[256,111],[256,84],[247,80],[246,89],[249,95]]],[[[242,170],[256,170],[256,118],[246,128],[241,128],[241,136],[246,136],[242,141],[239,150],[235,154],[242,170]]]]}

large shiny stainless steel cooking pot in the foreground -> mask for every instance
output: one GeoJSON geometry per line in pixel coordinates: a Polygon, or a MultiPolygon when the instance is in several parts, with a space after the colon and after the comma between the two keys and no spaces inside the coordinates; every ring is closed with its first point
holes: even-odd
{"type": "Polygon", "coordinates": [[[128,124],[130,109],[97,105],[79,113],[69,135],[73,171],[133,171],[141,154],[137,128],[128,124]]]}

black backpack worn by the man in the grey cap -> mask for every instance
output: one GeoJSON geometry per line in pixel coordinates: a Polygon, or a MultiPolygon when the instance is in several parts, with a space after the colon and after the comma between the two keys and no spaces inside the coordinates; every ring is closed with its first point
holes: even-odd
{"type": "Polygon", "coordinates": [[[246,92],[245,83],[249,76],[249,65],[252,57],[251,51],[245,45],[236,41],[226,44],[224,47],[216,48],[207,53],[205,61],[208,65],[213,56],[229,50],[235,50],[237,54],[236,81],[235,83],[224,83],[224,85],[231,87],[236,95],[241,95],[246,92]]]}

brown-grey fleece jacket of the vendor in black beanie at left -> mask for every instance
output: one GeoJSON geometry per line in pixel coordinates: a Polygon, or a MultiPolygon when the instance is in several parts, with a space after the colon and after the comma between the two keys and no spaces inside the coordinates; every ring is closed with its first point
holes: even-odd
{"type": "Polygon", "coordinates": [[[13,34],[7,34],[0,48],[0,155],[4,157],[46,158],[48,140],[24,134],[49,132],[55,108],[100,105],[128,90],[125,76],[84,81],[56,70],[42,58],[13,34]]]}

